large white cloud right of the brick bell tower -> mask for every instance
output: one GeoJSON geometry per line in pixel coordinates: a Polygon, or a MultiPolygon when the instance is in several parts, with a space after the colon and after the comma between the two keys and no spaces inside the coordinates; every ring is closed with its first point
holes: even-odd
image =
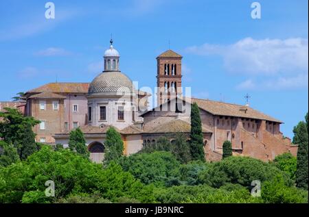
{"type": "Polygon", "coordinates": [[[186,51],[196,55],[220,55],[227,71],[236,73],[274,75],[308,71],[308,39],[304,38],[244,38],[235,44],[203,44],[188,47],[186,51]]]}

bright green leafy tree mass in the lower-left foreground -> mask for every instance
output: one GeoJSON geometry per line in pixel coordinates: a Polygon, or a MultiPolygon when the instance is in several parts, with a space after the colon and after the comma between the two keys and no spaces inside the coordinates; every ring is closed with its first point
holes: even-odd
{"type": "Polygon", "coordinates": [[[0,203],[52,203],[98,192],[112,202],[126,197],[145,203],[153,201],[151,190],[115,162],[103,169],[69,149],[53,151],[49,146],[0,169],[0,203]],[[55,183],[54,197],[45,196],[48,180],[55,183]]]}

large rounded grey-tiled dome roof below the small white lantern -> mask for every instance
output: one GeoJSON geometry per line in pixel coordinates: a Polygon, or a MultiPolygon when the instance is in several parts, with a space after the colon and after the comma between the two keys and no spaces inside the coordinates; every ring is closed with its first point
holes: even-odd
{"type": "Polygon", "coordinates": [[[133,83],[123,73],[104,72],[95,77],[89,86],[89,94],[99,93],[121,93],[132,94],[133,83]]]}

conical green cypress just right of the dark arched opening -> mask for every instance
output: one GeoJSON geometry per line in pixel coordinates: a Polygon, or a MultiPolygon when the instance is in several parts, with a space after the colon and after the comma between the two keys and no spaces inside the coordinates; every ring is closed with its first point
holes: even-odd
{"type": "Polygon", "coordinates": [[[124,153],[124,142],[122,141],[122,136],[114,127],[109,127],[106,131],[106,140],[104,144],[107,149],[104,155],[104,161],[106,164],[113,159],[118,159],[124,153]]]}

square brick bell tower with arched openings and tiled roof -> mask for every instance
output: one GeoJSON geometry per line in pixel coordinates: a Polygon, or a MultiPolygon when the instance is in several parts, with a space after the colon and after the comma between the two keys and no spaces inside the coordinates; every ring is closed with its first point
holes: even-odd
{"type": "Polygon", "coordinates": [[[181,59],[178,53],[168,50],[157,57],[157,105],[181,96],[181,59]]]}

